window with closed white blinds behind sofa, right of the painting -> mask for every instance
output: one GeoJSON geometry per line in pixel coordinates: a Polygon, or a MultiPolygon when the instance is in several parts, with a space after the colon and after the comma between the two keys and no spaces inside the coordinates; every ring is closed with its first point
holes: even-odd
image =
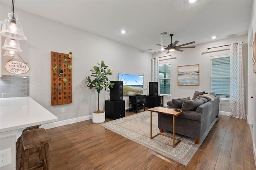
{"type": "Polygon", "coordinates": [[[229,99],[230,56],[212,57],[211,92],[220,98],[229,99]]]}

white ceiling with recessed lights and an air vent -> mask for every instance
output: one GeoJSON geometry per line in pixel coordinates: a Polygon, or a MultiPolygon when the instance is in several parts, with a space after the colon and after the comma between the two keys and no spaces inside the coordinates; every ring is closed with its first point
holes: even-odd
{"type": "Polygon", "coordinates": [[[252,0],[16,0],[17,8],[147,51],[171,43],[170,36],[159,35],[165,31],[177,45],[195,41],[191,46],[246,35],[252,0]]]}

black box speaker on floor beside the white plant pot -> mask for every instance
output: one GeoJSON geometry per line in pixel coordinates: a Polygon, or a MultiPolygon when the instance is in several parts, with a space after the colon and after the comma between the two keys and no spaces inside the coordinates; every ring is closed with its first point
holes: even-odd
{"type": "Polygon", "coordinates": [[[125,101],[105,101],[105,114],[110,119],[119,119],[125,115],[125,101]]]}

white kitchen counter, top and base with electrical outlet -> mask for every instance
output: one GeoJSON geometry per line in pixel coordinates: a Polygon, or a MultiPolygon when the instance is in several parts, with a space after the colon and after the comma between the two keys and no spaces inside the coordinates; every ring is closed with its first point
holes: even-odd
{"type": "Polygon", "coordinates": [[[11,148],[12,159],[11,164],[3,169],[16,169],[16,141],[25,128],[55,121],[58,121],[58,118],[31,97],[1,98],[0,150],[11,148]]]}

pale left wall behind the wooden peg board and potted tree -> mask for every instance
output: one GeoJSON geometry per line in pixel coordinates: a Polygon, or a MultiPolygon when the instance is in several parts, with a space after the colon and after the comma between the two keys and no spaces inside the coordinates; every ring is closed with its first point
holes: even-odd
{"type": "MultiPolygon", "coordinates": [[[[1,4],[0,20],[8,18],[10,6],[1,4]]],[[[24,75],[30,76],[30,97],[58,117],[59,121],[92,115],[97,110],[98,93],[89,89],[85,84],[85,77],[90,75],[97,62],[104,60],[108,68],[114,70],[115,80],[118,73],[143,75],[147,73],[150,78],[150,53],[140,53],[127,45],[102,38],[53,22],[46,18],[16,9],[24,30],[26,41],[20,41],[22,52],[20,56],[28,63],[30,71],[24,75]],[[73,103],[67,105],[51,106],[50,71],[52,69],[51,51],[60,53],[73,52],[73,103]],[[65,113],[61,113],[61,108],[65,113]]],[[[126,38],[125,35],[120,35],[126,38]]],[[[3,57],[3,66],[10,60],[3,57]]],[[[3,75],[11,75],[3,70],[3,75]]],[[[144,95],[148,94],[147,89],[144,95]]],[[[104,110],[105,100],[109,92],[100,93],[100,109],[104,110]]],[[[128,101],[128,97],[124,97],[128,101]]],[[[126,102],[126,107],[128,102],[126,102]]]]}

